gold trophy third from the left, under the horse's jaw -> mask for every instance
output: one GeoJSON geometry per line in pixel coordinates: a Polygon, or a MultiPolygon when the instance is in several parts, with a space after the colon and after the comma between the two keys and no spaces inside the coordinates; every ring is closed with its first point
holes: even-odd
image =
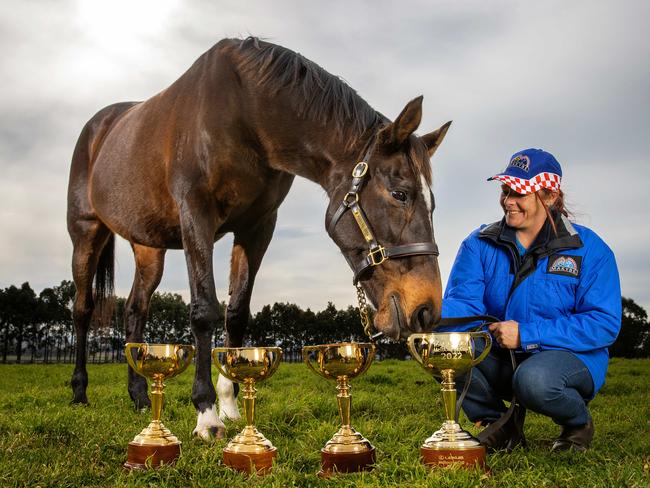
{"type": "Polygon", "coordinates": [[[316,374],[336,380],[336,396],[341,415],[341,428],[321,449],[321,477],[335,471],[354,473],[369,471],[375,464],[375,448],[368,439],[350,425],[352,395],[348,380],[364,373],[375,357],[375,346],[369,343],[340,342],[305,346],[302,357],[316,374]]]}

